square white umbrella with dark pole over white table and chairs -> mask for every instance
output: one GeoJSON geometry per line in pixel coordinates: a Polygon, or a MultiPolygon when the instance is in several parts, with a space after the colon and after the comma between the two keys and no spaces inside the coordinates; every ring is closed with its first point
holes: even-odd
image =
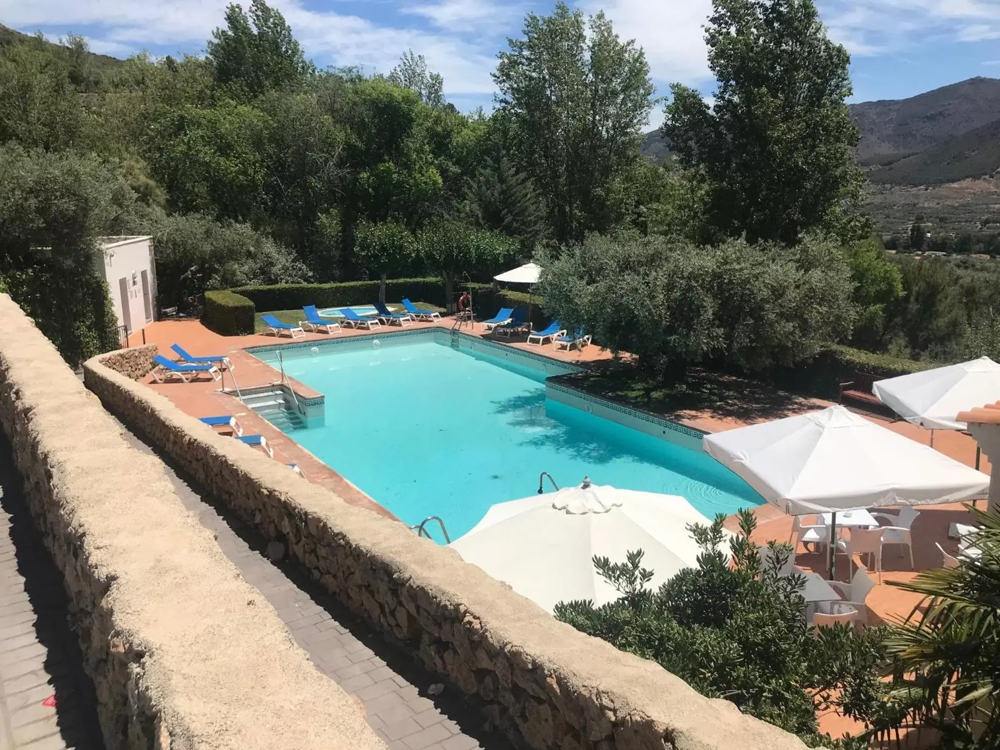
{"type": "Polygon", "coordinates": [[[785,513],[833,513],[831,558],[837,511],[955,502],[990,483],[842,406],[706,435],[702,447],[785,513]]]}

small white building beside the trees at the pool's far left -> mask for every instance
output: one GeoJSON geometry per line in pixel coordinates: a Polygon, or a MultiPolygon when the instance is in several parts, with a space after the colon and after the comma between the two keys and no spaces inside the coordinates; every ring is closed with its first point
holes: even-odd
{"type": "Polygon", "coordinates": [[[118,325],[132,333],[152,323],[156,317],[153,238],[98,237],[97,244],[101,249],[95,258],[97,271],[108,282],[118,325]]]}

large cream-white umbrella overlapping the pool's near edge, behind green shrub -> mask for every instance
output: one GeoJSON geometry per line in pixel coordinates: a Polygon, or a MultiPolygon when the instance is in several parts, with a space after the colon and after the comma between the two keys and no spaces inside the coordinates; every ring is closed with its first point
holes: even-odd
{"type": "Polygon", "coordinates": [[[658,587],[697,565],[700,549],[685,526],[711,523],[683,497],[591,485],[498,503],[449,546],[542,608],[619,594],[594,570],[593,557],[621,562],[641,549],[658,587]]]}

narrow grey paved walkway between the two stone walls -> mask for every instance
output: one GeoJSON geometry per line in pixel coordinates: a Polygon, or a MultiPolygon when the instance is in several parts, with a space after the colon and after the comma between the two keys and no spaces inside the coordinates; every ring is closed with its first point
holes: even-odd
{"type": "MultiPolygon", "coordinates": [[[[150,452],[137,438],[126,436],[150,452]]],[[[168,475],[185,507],[215,532],[220,549],[267,598],[317,669],[355,697],[392,750],[511,747],[484,732],[478,714],[459,696],[447,689],[432,696],[436,677],[352,617],[294,565],[272,563],[264,554],[264,540],[224,506],[206,502],[172,470],[168,475]]]]}

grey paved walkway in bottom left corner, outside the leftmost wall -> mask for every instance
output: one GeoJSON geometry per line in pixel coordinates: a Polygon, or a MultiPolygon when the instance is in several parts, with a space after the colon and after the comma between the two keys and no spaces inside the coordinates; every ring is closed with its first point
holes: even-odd
{"type": "Polygon", "coordinates": [[[62,577],[0,439],[0,750],[103,747],[62,577]],[[45,705],[53,694],[56,705],[45,705]]]}

